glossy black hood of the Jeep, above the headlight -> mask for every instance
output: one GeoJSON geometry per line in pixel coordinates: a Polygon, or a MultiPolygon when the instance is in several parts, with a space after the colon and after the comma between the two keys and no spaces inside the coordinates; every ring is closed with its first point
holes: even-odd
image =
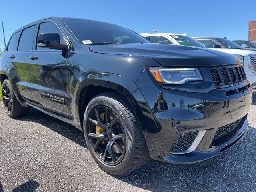
{"type": "Polygon", "coordinates": [[[152,58],[162,66],[220,66],[236,64],[234,56],[224,52],[169,44],[114,44],[90,46],[102,54],[132,55],[152,58]]]}

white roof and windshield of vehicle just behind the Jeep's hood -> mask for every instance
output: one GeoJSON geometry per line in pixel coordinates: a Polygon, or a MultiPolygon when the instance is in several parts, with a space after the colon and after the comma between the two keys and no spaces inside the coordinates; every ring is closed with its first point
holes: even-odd
{"type": "Polygon", "coordinates": [[[198,43],[198,41],[192,39],[191,37],[188,37],[186,33],[141,33],[140,35],[152,43],[186,45],[206,48],[206,46],[203,44],[198,43]]]}

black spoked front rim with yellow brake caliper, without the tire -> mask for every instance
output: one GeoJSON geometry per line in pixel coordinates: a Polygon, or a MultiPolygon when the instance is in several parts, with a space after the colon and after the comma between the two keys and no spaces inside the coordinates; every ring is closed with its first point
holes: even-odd
{"type": "Polygon", "coordinates": [[[122,161],[126,136],[118,115],[112,109],[103,105],[94,108],[89,114],[87,134],[93,152],[104,164],[115,166],[122,161]]]}

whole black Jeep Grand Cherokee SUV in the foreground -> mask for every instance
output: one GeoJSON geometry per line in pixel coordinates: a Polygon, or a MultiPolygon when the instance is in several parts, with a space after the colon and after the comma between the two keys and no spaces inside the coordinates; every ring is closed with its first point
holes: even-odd
{"type": "Polygon", "coordinates": [[[252,87],[239,60],[216,50],[52,17],[16,30],[0,61],[8,116],[32,107],[76,126],[110,174],[128,174],[148,158],[213,158],[247,130],[252,87]]]}

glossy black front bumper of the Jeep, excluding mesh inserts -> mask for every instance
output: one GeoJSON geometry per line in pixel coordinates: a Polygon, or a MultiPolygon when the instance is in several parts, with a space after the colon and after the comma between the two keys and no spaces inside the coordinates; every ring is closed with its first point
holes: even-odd
{"type": "Polygon", "coordinates": [[[215,157],[238,142],[246,133],[247,114],[252,102],[252,87],[244,92],[226,96],[237,86],[212,90],[209,93],[193,93],[165,90],[154,82],[137,82],[151,116],[144,102],[137,102],[148,123],[156,126],[143,128],[150,156],[154,160],[173,164],[191,164],[215,157]],[[160,96],[159,96],[160,95],[160,96]],[[162,99],[160,98],[162,97],[162,99]],[[162,100],[159,102],[159,100],[162,100]],[[213,145],[212,140],[218,128],[238,121],[242,124],[226,142],[213,145]],[[170,148],[183,133],[204,132],[195,149],[183,154],[173,154],[170,148]]]}

